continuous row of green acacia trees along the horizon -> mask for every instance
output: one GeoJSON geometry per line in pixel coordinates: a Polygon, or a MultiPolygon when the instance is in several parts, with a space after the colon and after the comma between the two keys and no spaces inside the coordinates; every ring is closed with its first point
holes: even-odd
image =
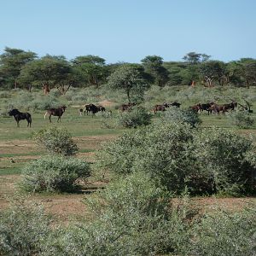
{"type": "Polygon", "coordinates": [[[211,56],[190,52],[183,61],[163,61],[158,55],[148,55],[141,63],[106,64],[96,55],[81,55],[68,61],[64,55],[45,55],[6,47],[0,55],[0,88],[43,87],[45,94],[57,88],[65,94],[70,86],[87,87],[112,84],[121,87],[129,98],[132,88],[143,90],[151,84],[219,84],[249,87],[256,83],[256,60],[213,61],[211,56]],[[123,83],[120,85],[120,83],[123,83]]]}

